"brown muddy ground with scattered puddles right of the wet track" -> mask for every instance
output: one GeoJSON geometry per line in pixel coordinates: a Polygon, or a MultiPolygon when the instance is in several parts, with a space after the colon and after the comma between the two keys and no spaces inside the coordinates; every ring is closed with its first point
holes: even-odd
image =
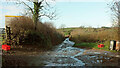
{"type": "Polygon", "coordinates": [[[120,52],[110,52],[95,48],[79,47],[85,49],[81,56],[77,56],[78,59],[86,63],[85,66],[119,66],[120,64],[120,52]],[[119,57],[117,57],[119,56],[119,57]],[[105,59],[109,58],[109,59],[105,59]],[[97,61],[102,61],[97,63],[97,61]]]}

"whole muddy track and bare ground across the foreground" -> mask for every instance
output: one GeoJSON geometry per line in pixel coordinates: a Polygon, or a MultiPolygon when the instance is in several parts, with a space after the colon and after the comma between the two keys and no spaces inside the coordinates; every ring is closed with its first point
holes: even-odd
{"type": "Polygon", "coordinates": [[[118,66],[120,54],[104,50],[72,47],[66,39],[55,49],[45,52],[3,53],[3,66],[118,66]],[[31,54],[32,53],[32,54],[31,54]]]}

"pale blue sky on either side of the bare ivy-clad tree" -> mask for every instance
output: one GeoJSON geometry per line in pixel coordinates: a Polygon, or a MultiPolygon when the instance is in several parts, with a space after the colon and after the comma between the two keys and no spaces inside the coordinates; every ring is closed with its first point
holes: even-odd
{"type": "MultiPolygon", "coordinates": [[[[66,27],[111,26],[111,14],[107,5],[109,1],[57,0],[55,8],[57,8],[59,19],[53,21],[53,23],[57,28],[61,24],[65,24],[66,27]]],[[[0,28],[5,26],[5,15],[20,15],[24,11],[24,8],[16,6],[13,2],[10,4],[7,4],[5,0],[0,2],[0,28]]]]}

